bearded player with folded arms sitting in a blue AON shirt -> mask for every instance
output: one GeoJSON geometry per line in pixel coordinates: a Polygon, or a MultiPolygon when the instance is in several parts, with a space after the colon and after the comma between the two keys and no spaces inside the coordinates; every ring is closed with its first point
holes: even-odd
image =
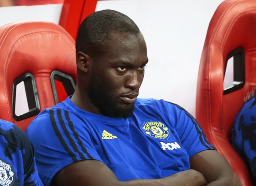
{"type": "Polygon", "coordinates": [[[91,14],[80,25],[76,53],[74,94],[27,129],[46,186],[241,185],[186,110],[137,98],[148,57],[130,18],[91,14]]]}

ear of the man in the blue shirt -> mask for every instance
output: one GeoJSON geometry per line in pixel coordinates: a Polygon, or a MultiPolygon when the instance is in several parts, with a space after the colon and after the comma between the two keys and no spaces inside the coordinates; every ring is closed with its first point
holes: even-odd
{"type": "Polygon", "coordinates": [[[77,68],[87,73],[92,64],[91,57],[83,52],[78,52],[76,59],[77,59],[77,68]]]}

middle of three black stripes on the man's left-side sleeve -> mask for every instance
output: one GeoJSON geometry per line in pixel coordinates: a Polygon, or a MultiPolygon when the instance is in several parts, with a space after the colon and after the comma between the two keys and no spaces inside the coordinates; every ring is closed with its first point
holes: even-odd
{"type": "Polygon", "coordinates": [[[77,152],[77,154],[79,154],[81,160],[85,160],[84,154],[82,154],[79,151],[79,149],[77,148],[77,144],[74,142],[73,138],[70,136],[69,131],[67,130],[67,127],[66,127],[66,124],[65,124],[65,122],[64,122],[64,120],[62,118],[62,114],[61,114],[61,110],[60,109],[57,109],[57,115],[58,115],[59,122],[60,122],[60,125],[62,127],[62,130],[64,131],[66,137],[68,138],[69,143],[73,147],[74,151],[77,152]]]}

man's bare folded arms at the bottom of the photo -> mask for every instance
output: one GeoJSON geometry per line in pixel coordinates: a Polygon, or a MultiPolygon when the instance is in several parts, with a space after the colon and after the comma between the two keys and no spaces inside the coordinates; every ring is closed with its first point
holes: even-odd
{"type": "Polygon", "coordinates": [[[161,179],[119,181],[105,164],[97,160],[77,161],[60,170],[52,180],[56,186],[241,186],[222,155],[215,150],[197,153],[191,169],[161,179]]]}

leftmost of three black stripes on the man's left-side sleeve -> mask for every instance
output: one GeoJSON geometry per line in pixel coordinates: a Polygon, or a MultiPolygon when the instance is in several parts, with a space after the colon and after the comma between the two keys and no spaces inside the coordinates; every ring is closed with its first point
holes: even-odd
{"type": "Polygon", "coordinates": [[[77,161],[77,158],[76,158],[75,154],[69,149],[68,145],[66,144],[65,140],[63,139],[63,137],[62,137],[62,135],[61,135],[61,133],[60,133],[58,127],[57,127],[53,109],[50,109],[50,119],[51,119],[51,125],[52,125],[57,137],[59,138],[60,143],[62,144],[64,149],[67,151],[69,156],[72,158],[72,160],[74,162],[77,161]]]}

